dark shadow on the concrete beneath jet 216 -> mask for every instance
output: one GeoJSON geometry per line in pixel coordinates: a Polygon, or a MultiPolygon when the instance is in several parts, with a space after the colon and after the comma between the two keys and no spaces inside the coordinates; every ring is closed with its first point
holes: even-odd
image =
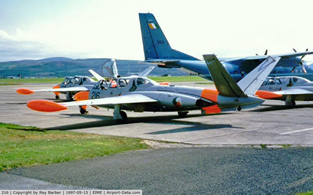
{"type": "MultiPolygon", "coordinates": [[[[219,113],[220,114],[230,114],[230,113],[219,113]]],[[[204,124],[200,122],[190,122],[190,121],[181,121],[175,119],[181,119],[177,115],[170,116],[146,116],[146,117],[129,117],[126,123],[118,123],[113,120],[113,116],[105,116],[105,115],[77,115],[77,114],[63,114],[69,116],[83,116],[86,118],[95,118],[100,119],[100,121],[92,121],[92,122],[84,122],[84,123],[76,123],[71,125],[64,126],[55,126],[47,128],[46,130],[74,130],[74,129],[85,129],[85,128],[93,128],[93,127],[103,127],[103,126],[115,126],[121,124],[133,124],[133,123],[157,123],[157,124],[171,124],[171,125],[189,125],[188,127],[176,128],[171,130],[162,130],[150,132],[147,134],[157,135],[157,134],[167,134],[167,133],[177,133],[177,132],[185,132],[185,131],[200,131],[200,130],[209,130],[209,129],[220,129],[220,128],[240,128],[242,127],[233,127],[230,124],[204,124]]],[[[217,115],[217,114],[213,114],[217,115]]],[[[197,117],[201,115],[188,115],[188,117],[197,117]]]]}

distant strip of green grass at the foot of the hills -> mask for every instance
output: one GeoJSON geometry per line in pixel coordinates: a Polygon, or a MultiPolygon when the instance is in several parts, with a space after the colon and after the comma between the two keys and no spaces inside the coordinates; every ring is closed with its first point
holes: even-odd
{"type": "MultiPolygon", "coordinates": [[[[198,76],[148,76],[148,78],[156,82],[208,81],[198,76]]],[[[64,78],[0,79],[0,82],[61,83],[63,80],[64,78]]]]}

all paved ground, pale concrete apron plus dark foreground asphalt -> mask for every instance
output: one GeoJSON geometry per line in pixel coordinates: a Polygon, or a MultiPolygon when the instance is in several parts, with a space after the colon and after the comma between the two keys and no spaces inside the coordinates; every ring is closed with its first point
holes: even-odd
{"type": "MultiPolygon", "coordinates": [[[[296,102],[294,109],[287,109],[283,101],[266,100],[240,112],[202,116],[196,110],[186,118],[176,112],[126,112],[128,122],[119,124],[112,120],[113,110],[101,108],[87,108],[88,115],[75,107],[53,113],[30,110],[29,100],[55,100],[54,94],[15,92],[52,86],[0,86],[0,121],[179,143],[0,172],[0,189],[143,189],[143,194],[288,194],[313,189],[312,168],[303,171],[313,166],[313,148],[297,147],[313,146],[313,102],[296,102]],[[260,144],[272,148],[250,148],[260,144]],[[283,146],[287,148],[275,148],[283,146]]],[[[65,101],[60,97],[57,102],[65,101]]]]}

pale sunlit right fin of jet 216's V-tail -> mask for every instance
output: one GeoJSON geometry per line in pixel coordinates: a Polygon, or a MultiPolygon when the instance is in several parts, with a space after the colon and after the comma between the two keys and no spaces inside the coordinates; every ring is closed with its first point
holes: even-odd
{"type": "Polygon", "coordinates": [[[247,76],[241,79],[237,84],[245,94],[253,95],[262,85],[267,75],[272,71],[280,57],[268,57],[259,66],[253,69],[247,76]],[[251,82],[252,81],[252,82],[251,82]]]}

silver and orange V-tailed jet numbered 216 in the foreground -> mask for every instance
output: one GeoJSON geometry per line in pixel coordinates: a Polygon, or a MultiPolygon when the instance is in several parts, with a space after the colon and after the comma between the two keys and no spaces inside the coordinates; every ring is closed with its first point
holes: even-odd
{"type": "MultiPolygon", "coordinates": [[[[37,111],[53,112],[68,109],[68,106],[91,105],[114,109],[113,119],[126,120],[121,110],[134,112],[177,111],[184,117],[189,110],[201,110],[202,114],[229,110],[241,110],[258,106],[264,99],[254,95],[266,75],[277,64],[280,57],[268,58],[238,85],[215,55],[203,55],[211,72],[215,89],[204,89],[181,85],[159,85],[144,77],[117,77],[107,82],[100,80],[89,91],[75,95],[81,101],[55,103],[48,100],[32,100],[27,107],[37,111]],[[117,86],[112,86],[115,81],[117,86]],[[104,86],[102,86],[105,84],[104,86]],[[106,87],[108,86],[108,87],[106,87]]],[[[266,92],[266,95],[272,94],[266,92]]],[[[276,95],[276,94],[274,94],[276,95]]]]}

